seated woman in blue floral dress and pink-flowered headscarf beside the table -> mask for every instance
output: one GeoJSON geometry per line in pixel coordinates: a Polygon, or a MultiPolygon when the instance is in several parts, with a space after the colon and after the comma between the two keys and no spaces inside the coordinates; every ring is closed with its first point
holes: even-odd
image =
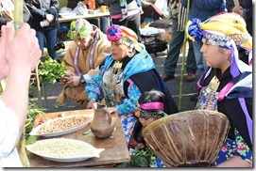
{"type": "Polygon", "coordinates": [[[117,111],[127,142],[137,117],[136,103],[145,91],[153,88],[165,94],[164,112],[168,115],[178,112],[167,86],[155,69],[152,57],[145,51],[145,45],[138,43],[137,35],[125,26],[111,25],[107,30],[111,41],[111,54],[105,59],[99,72],[87,82],[87,108],[93,108],[95,101],[103,98],[108,107],[117,111]]]}

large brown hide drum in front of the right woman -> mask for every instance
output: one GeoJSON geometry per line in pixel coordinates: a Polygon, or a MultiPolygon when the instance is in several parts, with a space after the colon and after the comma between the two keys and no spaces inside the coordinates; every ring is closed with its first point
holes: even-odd
{"type": "Polygon", "coordinates": [[[217,111],[193,110],[162,117],[143,131],[145,142],[171,167],[207,167],[217,158],[230,130],[217,111]]]}

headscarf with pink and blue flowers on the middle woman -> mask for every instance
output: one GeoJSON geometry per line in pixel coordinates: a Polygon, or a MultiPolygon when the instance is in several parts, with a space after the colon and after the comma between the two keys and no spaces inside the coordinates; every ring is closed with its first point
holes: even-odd
{"type": "Polygon", "coordinates": [[[128,27],[122,25],[119,26],[116,24],[112,24],[108,27],[107,37],[111,42],[122,39],[123,43],[127,46],[138,42],[138,37],[134,31],[132,31],[128,27]]]}

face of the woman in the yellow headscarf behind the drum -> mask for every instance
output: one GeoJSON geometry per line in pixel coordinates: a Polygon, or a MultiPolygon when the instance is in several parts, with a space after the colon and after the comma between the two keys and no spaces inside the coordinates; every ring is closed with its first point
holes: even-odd
{"type": "Polygon", "coordinates": [[[229,54],[225,55],[225,51],[229,50],[219,46],[214,46],[208,42],[204,42],[200,50],[200,52],[204,55],[207,66],[217,69],[223,69],[223,67],[227,66],[228,64],[229,54]]]}

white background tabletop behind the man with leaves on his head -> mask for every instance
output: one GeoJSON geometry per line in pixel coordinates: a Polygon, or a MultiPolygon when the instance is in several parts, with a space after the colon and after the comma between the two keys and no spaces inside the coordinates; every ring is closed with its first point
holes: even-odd
{"type": "Polygon", "coordinates": [[[59,23],[72,22],[77,19],[96,19],[101,17],[109,17],[110,12],[97,12],[94,14],[76,15],[71,17],[59,18],[59,23]]]}

